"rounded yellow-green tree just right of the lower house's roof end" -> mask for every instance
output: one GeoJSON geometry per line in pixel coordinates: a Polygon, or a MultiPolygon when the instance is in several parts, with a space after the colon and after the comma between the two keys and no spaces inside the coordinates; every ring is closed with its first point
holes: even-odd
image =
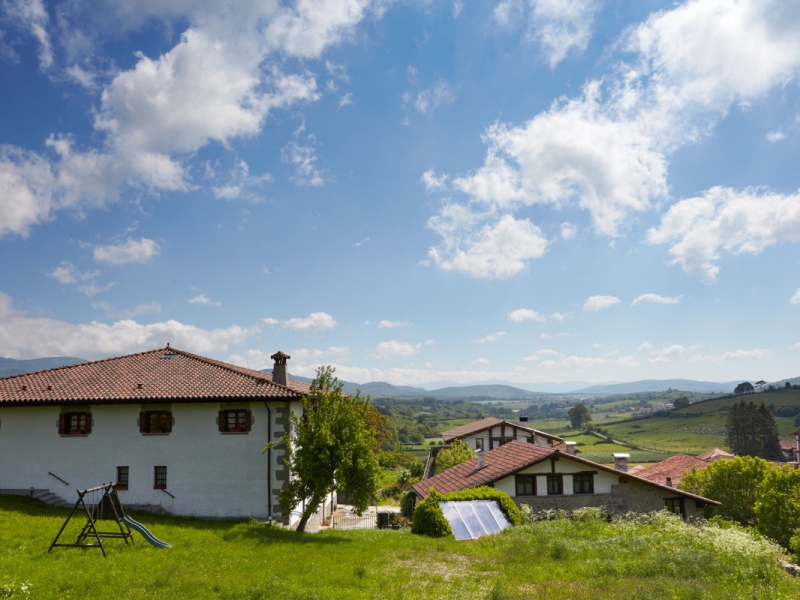
{"type": "Polygon", "coordinates": [[[758,489],[770,469],[777,467],[763,458],[737,456],[716,460],[702,471],[697,467],[687,472],[678,487],[692,494],[722,502],[708,506],[707,516],[721,515],[742,525],[755,525],[758,489]]]}

